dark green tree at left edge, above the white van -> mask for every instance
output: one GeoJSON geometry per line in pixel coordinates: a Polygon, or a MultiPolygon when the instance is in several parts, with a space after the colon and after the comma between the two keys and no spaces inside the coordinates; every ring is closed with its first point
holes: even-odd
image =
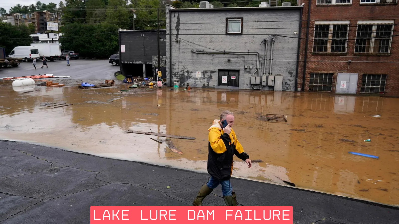
{"type": "Polygon", "coordinates": [[[29,29],[25,25],[13,26],[0,22],[0,47],[6,48],[8,55],[16,46],[29,46],[32,43],[29,34],[29,29]]]}

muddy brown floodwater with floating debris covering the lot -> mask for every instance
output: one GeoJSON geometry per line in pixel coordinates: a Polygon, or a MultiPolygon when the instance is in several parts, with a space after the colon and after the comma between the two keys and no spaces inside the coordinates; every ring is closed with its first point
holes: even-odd
{"type": "Polygon", "coordinates": [[[226,91],[169,87],[119,92],[128,85],[78,89],[37,86],[22,93],[0,81],[0,138],[26,141],[115,159],[206,172],[207,128],[223,110],[251,159],[236,160],[235,177],[284,184],[399,206],[399,99],[327,93],[226,91]],[[126,98],[112,102],[113,99],[126,98]],[[51,108],[46,103],[71,106],[51,108]],[[160,104],[160,106],[157,106],[160,104]],[[267,122],[284,114],[287,122],[267,122]],[[372,117],[381,115],[381,117],[372,117]],[[192,136],[172,139],[126,130],[192,136]],[[364,140],[371,139],[370,142],[364,140]],[[379,159],[352,155],[359,152],[379,159]]]}

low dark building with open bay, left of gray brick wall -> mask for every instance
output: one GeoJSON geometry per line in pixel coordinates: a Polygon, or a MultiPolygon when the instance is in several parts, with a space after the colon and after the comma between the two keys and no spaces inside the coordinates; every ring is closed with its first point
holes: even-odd
{"type": "MultiPolygon", "coordinates": [[[[166,55],[165,30],[160,31],[160,55],[166,55]]],[[[157,30],[119,31],[120,71],[123,75],[154,77],[152,57],[158,55],[157,30]]]]}

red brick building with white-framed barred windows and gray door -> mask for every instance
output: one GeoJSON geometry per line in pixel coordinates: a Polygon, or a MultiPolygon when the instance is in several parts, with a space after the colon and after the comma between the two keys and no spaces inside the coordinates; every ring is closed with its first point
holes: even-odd
{"type": "Polygon", "coordinates": [[[298,90],[399,96],[397,0],[302,3],[298,90]]]}

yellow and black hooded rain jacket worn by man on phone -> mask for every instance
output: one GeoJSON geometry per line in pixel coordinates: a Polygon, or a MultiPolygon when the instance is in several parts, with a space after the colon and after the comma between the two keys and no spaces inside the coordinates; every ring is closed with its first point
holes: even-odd
{"type": "Polygon", "coordinates": [[[214,120],[208,131],[208,173],[219,181],[229,180],[233,173],[233,155],[243,161],[249,159],[249,155],[244,152],[234,130],[231,129],[229,135],[224,133],[219,120],[214,120]]]}

